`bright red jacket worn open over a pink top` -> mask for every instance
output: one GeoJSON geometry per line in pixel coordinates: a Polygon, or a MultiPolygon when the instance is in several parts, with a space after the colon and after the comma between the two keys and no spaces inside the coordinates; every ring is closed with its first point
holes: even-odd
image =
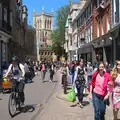
{"type": "MultiPolygon", "coordinates": [[[[93,87],[95,87],[95,83],[96,83],[96,77],[98,75],[98,72],[95,72],[93,75],[92,75],[92,80],[91,80],[91,85],[93,87]]],[[[106,95],[107,94],[107,91],[109,92],[112,92],[112,86],[108,87],[108,83],[109,82],[112,82],[112,78],[110,76],[109,73],[107,72],[104,72],[104,94],[106,95]],[[108,88],[108,89],[107,89],[108,88]]]]}

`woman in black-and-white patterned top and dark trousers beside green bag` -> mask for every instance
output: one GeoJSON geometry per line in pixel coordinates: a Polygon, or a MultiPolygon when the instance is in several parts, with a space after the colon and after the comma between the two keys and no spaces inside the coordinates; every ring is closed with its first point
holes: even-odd
{"type": "Polygon", "coordinates": [[[83,92],[86,84],[83,59],[79,61],[78,66],[76,67],[74,84],[76,85],[77,88],[79,106],[83,108],[83,92]]]}

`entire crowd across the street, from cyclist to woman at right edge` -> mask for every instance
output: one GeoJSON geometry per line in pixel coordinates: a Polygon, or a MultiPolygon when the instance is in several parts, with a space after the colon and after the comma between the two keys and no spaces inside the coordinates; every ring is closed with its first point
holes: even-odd
{"type": "MultiPolygon", "coordinates": [[[[14,74],[15,79],[19,79],[18,87],[20,88],[21,98],[24,103],[24,82],[32,82],[32,79],[40,71],[42,83],[45,82],[46,72],[49,71],[50,82],[56,72],[56,63],[47,61],[27,60],[21,64],[15,56],[9,65],[7,77],[10,72],[14,74]]],[[[117,120],[120,108],[120,61],[111,67],[107,62],[98,62],[92,65],[83,59],[80,61],[66,62],[61,67],[62,84],[64,85],[64,94],[67,93],[67,76],[71,75],[72,86],[77,90],[78,103],[84,108],[83,98],[84,89],[87,88],[89,93],[89,101],[92,101],[94,107],[94,119],[105,120],[106,106],[110,105],[110,96],[112,96],[114,120],[117,120]]]]}

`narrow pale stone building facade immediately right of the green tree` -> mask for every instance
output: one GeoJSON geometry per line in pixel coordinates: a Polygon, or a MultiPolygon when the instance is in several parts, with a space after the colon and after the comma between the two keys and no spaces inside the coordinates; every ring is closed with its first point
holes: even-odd
{"type": "Polygon", "coordinates": [[[64,48],[68,53],[68,60],[78,60],[77,56],[77,21],[76,16],[79,14],[85,4],[85,0],[78,3],[70,4],[70,12],[65,26],[65,44],[64,48]]]}

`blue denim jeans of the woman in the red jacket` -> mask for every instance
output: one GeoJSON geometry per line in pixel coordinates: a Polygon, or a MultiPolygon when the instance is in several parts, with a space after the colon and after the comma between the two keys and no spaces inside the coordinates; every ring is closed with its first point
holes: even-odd
{"type": "Polygon", "coordinates": [[[94,119],[105,120],[106,101],[103,96],[93,92],[94,119]]]}

